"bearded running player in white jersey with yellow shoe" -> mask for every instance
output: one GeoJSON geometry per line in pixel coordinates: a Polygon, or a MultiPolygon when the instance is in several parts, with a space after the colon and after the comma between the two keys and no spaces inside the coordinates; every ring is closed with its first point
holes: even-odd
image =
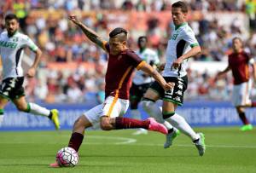
{"type": "Polygon", "coordinates": [[[59,130],[58,111],[56,109],[50,111],[36,103],[26,102],[22,86],[24,81],[21,67],[23,49],[28,47],[36,54],[35,61],[26,73],[28,78],[35,76],[42,55],[41,50],[29,37],[18,31],[19,21],[15,14],[5,16],[5,27],[7,32],[2,32],[0,35],[0,55],[3,64],[3,81],[0,89],[0,124],[3,123],[3,108],[9,101],[12,101],[19,111],[48,117],[55,124],[55,129],[59,130]]]}

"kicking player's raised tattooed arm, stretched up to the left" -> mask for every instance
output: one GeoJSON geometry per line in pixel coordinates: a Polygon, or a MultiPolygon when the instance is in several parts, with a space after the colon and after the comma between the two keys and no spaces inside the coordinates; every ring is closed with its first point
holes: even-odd
{"type": "Polygon", "coordinates": [[[79,28],[81,28],[81,30],[84,32],[86,37],[90,39],[91,42],[96,43],[96,45],[106,50],[105,44],[107,43],[107,41],[103,40],[102,37],[96,34],[96,32],[85,26],[80,20],[78,20],[76,15],[70,15],[69,20],[73,21],[76,26],[79,26],[79,28]]]}

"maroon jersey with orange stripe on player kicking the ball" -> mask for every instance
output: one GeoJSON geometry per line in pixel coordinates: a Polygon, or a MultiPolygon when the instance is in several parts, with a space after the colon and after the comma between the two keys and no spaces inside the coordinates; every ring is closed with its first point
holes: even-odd
{"type": "MultiPolygon", "coordinates": [[[[105,46],[109,52],[109,45],[105,46]]],[[[105,77],[106,98],[111,95],[115,98],[129,99],[131,88],[131,74],[134,68],[139,70],[145,61],[135,54],[131,49],[125,49],[119,55],[108,57],[108,69],[105,77]]]]}

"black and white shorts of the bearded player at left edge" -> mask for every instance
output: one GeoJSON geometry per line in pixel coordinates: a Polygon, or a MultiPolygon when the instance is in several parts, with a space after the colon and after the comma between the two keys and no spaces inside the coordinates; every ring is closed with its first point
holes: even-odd
{"type": "Polygon", "coordinates": [[[24,77],[5,78],[1,84],[0,95],[10,100],[20,98],[25,95],[23,82],[24,77]]]}

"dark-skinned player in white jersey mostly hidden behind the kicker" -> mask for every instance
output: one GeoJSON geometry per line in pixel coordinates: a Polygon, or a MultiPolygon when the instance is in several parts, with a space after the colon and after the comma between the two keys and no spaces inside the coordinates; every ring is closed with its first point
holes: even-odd
{"type": "MultiPolygon", "coordinates": [[[[150,66],[156,68],[160,64],[159,57],[153,49],[149,49],[148,38],[146,36],[138,37],[137,39],[137,55],[146,61],[150,66]]],[[[131,101],[131,117],[141,119],[141,112],[137,109],[139,102],[142,100],[144,93],[148,87],[154,82],[154,78],[150,77],[147,73],[143,71],[137,71],[132,80],[132,85],[130,89],[130,101],[131,101]]],[[[154,117],[159,121],[159,117],[154,117]]],[[[172,129],[172,125],[168,122],[164,122],[167,129],[172,129]]],[[[148,130],[139,129],[133,133],[133,135],[148,134],[148,130]]]]}

